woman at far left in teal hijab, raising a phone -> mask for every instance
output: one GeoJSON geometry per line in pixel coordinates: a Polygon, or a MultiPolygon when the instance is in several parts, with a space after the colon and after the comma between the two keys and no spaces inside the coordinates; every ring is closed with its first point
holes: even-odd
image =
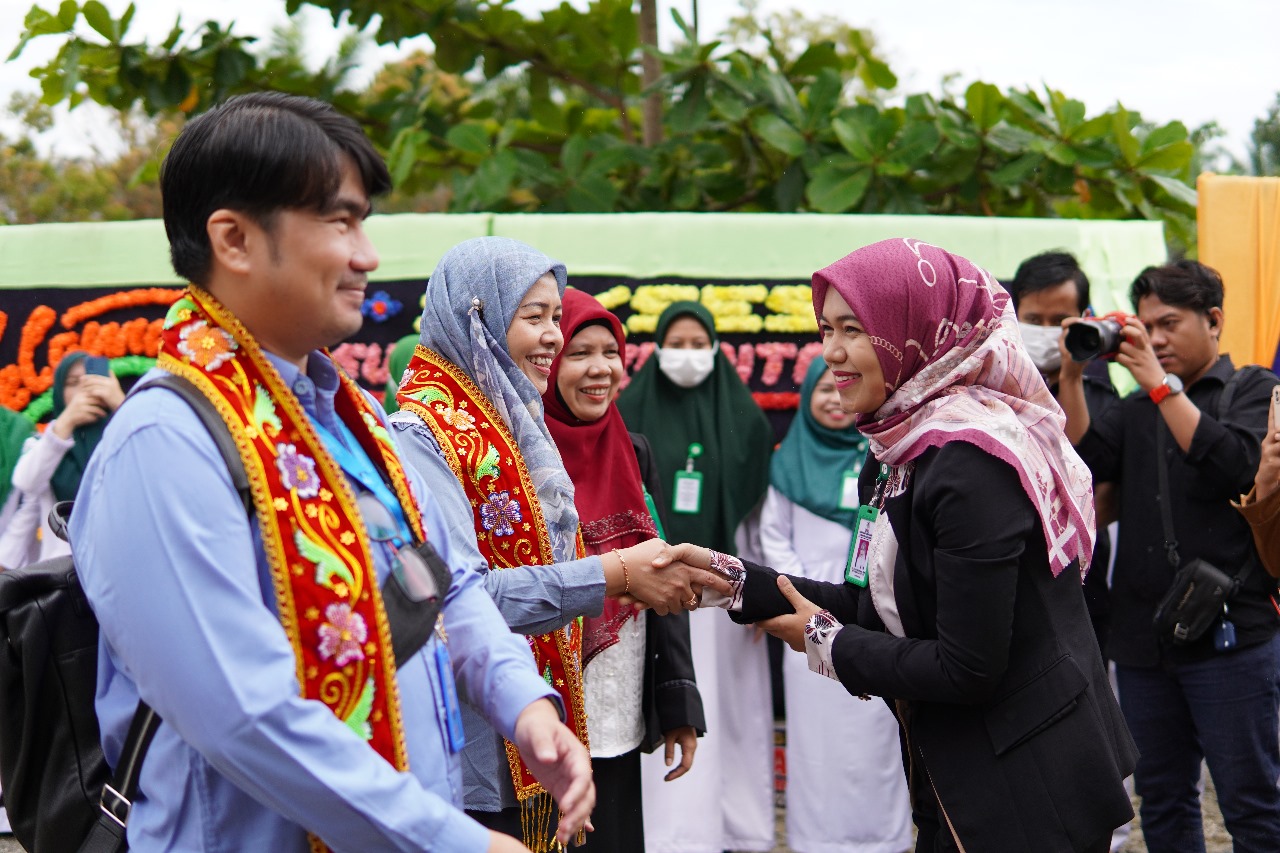
{"type": "MultiPolygon", "coordinates": [[[[70,546],[49,528],[49,511],[59,501],[72,501],[88,457],[102,439],[106,420],[122,402],[124,391],[108,369],[106,359],[68,352],[54,370],[54,420],[40,437],[29,438],[13,469],[13,487],[23,502],[38,505],[40,560],[70,553],[70,546]]],[[[4,540],[35,535],[10,525],[4,540]]],[[[3,549],[3,548],[0,548],[3,549]]],[[[14,566],[9,566],[13,569],[14,566]]]]}

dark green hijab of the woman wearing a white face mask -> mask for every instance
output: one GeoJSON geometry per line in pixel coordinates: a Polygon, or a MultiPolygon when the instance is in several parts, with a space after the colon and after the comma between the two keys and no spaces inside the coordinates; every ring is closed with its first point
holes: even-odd
{"type": "Polygon", "coordinates": [[[696,319],[712,337],[716,365],[710,375],[692,388],[681,388],[658,369],[654,355],[631,379],[617,406],[627,429],[643,433],[653,446],[668,508],[689,446],[703,446],[694,460],[694,470],[703,475],[701,508],[695,515],[671,512],[667,540],[735,553],[733,532],[769,484],[773,428],[721,351],[716,320],[705,306],[669,305],[658,318],[654,341],[660,343],[682,316],[696,319]]]}

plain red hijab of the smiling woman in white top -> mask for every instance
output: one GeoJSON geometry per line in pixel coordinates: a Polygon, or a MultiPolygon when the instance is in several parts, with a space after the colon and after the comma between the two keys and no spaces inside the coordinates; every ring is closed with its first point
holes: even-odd
{"type": "MultiPolygon", "coordinates": [[[[573,336],[588,325],[605,325],[618,342],[620,356],[626,355],[622,323],[593,296],[582,291],[564,291],[561,329],[564,348],[552,362],[552,377],[543,394],[547,406],[547,428],[559,448],[564,469],[573,480],[573,503],[582,529],[582,543],[589,555],[614,548],[627,548],[658,535],[644,501],[640,464],[622,415],[612,402],[604,416],[595,421],[579,420],[559,393],[559,369],[573,336]]],[[[625,361],[625,359],[623,359],[625,361]]],[[[604,601],[604,613],[586,620],[582,640],[582,662],[618,642],[618,629],[635,611],[612,598],[604,601]]]]}

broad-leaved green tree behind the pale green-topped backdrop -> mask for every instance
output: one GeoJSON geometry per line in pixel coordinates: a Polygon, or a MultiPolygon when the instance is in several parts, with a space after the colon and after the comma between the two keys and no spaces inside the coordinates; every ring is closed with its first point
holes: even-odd
{"type": "Polygon", "coordinates": [[[632,0],[536,17],[503,0],[308,5],[379,44],[426,35],[434,53],[356,92],[340,68],[280,76],[216,23],[152,45],[128,37],[132,6],[113,18],[64,0],[31,9],[14,55],[61,41],[35,72],[49,104],[172,115],[260,88],[326,97],[385,151],[392,209],[1144,218],[1175,248],[1193,243],[1197,146],[1181,123],[1119,105],[1091,115],[1052,88],[900,93],[874,38],[836,20],[748,6],[727,41],[701,42],[673,13],[678,38],[659,53],[632,0]],[[649,85],[645,58],[660,63],[649,85]],[[644,127],[646,100],[660,128],[644,127]]]}

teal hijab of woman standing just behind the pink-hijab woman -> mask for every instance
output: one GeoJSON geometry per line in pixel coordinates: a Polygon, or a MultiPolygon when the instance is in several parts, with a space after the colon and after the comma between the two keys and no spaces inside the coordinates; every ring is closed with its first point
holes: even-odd
{"type": "Polygon", "coordinates": [[[840,491],[845,471],[856,476],[863,469],[867,439],[852,425],[829,429],[813,416],[813,389],[824,373],[827,362],[814,359],[800,386],[800,410],[769,465],[769,482],[792,503],[851,530],[858,511],[840,508],[840,491]]]}

